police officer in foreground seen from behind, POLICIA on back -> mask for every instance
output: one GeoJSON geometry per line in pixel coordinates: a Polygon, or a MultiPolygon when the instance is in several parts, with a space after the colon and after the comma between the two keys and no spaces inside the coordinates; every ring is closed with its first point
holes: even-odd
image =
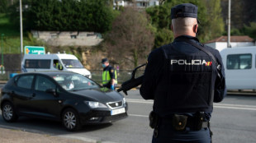
{"type": "Polygon", "coordinates": [[[213,102],[225,97],[220,53],[199,42],[197,6],[171,9],[174,41],[149,54],[140,95],[154,99],[152,142],[211,142],[213,102]]]}

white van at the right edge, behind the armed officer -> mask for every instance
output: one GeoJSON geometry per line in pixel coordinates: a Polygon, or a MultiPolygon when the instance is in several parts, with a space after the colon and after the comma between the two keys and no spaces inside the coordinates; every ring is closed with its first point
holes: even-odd
{"type": "Polygon", "coordinates": [[[256,90],[256,46],[220,51],[227,90],[256,90]]]}

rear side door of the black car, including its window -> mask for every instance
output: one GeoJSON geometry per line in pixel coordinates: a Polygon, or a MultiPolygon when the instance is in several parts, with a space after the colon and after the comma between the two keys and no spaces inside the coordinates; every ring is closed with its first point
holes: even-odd
{"type": "Polygon", "coordinates": [[[33,96],[33,74],[25,74],[15,77],[16,85],[12,89],[12,99],[17,112],[22,114],[31,113],[30,100],[33,96]]]}

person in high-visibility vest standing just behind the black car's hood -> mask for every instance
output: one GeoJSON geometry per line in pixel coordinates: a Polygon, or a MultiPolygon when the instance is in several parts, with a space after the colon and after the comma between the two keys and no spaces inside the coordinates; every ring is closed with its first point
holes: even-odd
{"type": "Polygon", "coordinates": [[[102,59],[102,67],[102,85],[111,90],[115,90],[117,85],[117,75],[115,68],[109,65],[107,58],[102,59]]]}

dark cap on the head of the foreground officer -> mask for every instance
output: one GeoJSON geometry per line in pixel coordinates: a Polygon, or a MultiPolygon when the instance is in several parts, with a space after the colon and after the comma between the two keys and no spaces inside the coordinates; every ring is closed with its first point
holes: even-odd
{"type": "Polygon", "coordinates": [[[191,3],[183,3],[172,7],[171,18],[175,19],[178,17],[197,18],[197,6],[191,3]]]}

